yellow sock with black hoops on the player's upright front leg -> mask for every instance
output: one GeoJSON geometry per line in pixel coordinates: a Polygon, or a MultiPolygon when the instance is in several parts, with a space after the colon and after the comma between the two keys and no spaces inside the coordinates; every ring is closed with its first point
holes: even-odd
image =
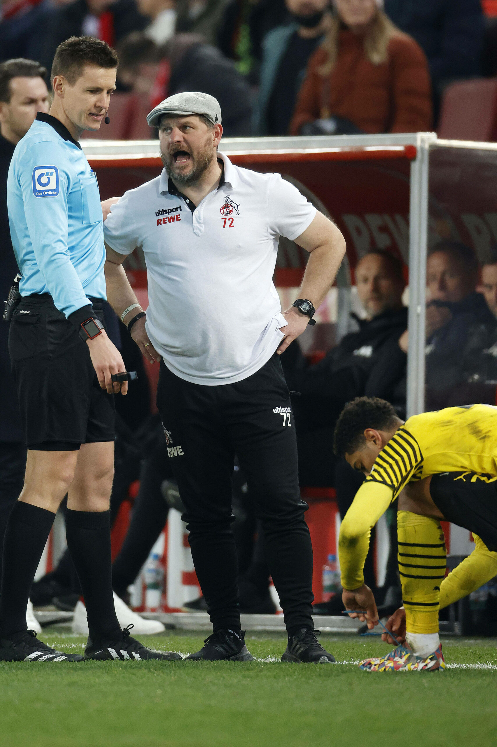
{"type": "Polygon", "coordinates": [[[440,521],[410,511],[397,514],[398,571],[407,633],[438,633],[446,542],[440,521]]]}

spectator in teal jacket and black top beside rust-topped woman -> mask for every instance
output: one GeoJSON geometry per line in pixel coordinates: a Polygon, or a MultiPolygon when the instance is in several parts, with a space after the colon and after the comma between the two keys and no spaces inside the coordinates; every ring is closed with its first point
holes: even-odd
{"type": "Polygon", "coordinates": [[[331,26],[329,0],[286,0],[293,23],[278,26],[263,41],[254,132],[286,135],[310,55],[331,26]]]}

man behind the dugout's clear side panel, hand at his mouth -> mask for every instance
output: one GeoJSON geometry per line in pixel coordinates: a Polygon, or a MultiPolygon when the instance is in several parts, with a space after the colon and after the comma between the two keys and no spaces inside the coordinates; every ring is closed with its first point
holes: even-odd
{"type": "MultiPolygon", "coordinates": [[[[461,401],[462,391],[468,391],[466,385],[480,375],[482,351],[488,347],[496,328],[496,319],[484,296],[476,292],[478,270],[475,253],[457,241],[440,241],[428,252],[425,359],[428,410],[470,404],[461,401]]],[[[400,344],[406,352],[407,341],[405,332],[400,344]]]]}

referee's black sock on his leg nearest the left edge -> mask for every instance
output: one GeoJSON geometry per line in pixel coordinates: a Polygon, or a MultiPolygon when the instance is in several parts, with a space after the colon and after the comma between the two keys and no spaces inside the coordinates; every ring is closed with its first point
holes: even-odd
{"type": "Polygon", "coordinates": [[[29,591],[54,518],[53,512],[20,500],[10,512],[0,592],[0,636],[4,638],[27,629],[29,591]]]}

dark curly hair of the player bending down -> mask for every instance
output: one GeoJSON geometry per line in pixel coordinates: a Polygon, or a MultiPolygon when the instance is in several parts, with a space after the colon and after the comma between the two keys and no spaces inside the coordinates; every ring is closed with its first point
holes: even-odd
{"type": "Polygon", "coordinates": [[[340,412],[334,435],[334,453],[352,454],[366,443],[366,428],[385,430],[396,426],[399,418],[390,402],[379,397],[356,397],[340,412]]]}

